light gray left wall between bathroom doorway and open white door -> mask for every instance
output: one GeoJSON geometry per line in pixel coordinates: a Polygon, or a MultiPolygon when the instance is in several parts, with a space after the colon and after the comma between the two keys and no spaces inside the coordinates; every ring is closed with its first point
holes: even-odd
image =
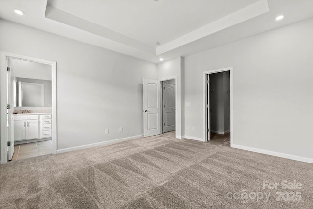
{"type": "Polygon", "coordinates": [[[0,51],[57,61],[58,149],[143,134],[156,64],[1,19],[0,31],[0,51]]]}

